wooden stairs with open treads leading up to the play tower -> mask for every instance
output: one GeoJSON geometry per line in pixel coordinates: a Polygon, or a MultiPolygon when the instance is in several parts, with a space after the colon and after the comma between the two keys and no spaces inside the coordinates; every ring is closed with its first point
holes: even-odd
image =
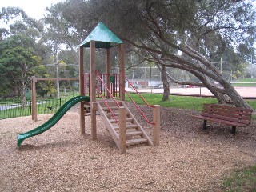
{"type": "Polygon", "coordinates": [[[119,131],[122,129],[120,129],[120,125],[122,125],[120,121],[122,119],[119,119],[120,107],[123,107],[126,110],[126,146],[133,146],[138,144],[153,146],[153,142],[151,142],[150,138],[146,135],[146,132],[142,129],[142,126],[138,124],[138,121],[127,108],[125,102],[118,101],[117,104],[113,100],[110,100],[106,103],[97,102],[97,108],[102,116],[102,120],[106,124],[107,130],[109,130],[112,138],[114,138],[114,142],[117,144],[119,149],[122,148],[119,137],[119,131]],[[110,110],[112,110],[114,115],[110,112],[110,110]]]}

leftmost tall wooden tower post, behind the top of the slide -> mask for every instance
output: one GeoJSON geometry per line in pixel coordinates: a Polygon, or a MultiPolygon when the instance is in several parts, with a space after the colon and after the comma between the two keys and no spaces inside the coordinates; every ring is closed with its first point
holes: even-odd
{"type": "MultiPolygon", "coordinates": [[[[79,92],[80,95],[85,96],[85,76],[84,76],[84,66],[83,66],[83,47],[80,46],[79,52],[79,92]]],[[[84,102],[80,102],[80,133],[86,134],[85,128],[85,110],[84,102]]]]}

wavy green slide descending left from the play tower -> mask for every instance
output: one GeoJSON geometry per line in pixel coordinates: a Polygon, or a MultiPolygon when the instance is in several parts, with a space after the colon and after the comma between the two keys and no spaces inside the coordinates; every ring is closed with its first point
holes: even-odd
{"type": "Polygon", "coordinates": [[[64,105],[61,106],[61,108],[59,108],[59,110],[56,112],[56,114],[54,114],[53,117],[51,117],[47,122],[42,124],[42,126],[38,126],[34,130],[27,131],[26,133],[19,134],[17,137],[17,145],[21,146],[22,142],[26,138],[30,138],[35,135],[42,134],[46,130],[49,130],[50,127],[54,126],[63,117],[63,115],[66,114],[68,110],[70,110],[72,106],[82,101],[90,102],[90,98],[87,96],[77,96],[77,97],[71,98],[69,101],[64,103],[64,105]]]}

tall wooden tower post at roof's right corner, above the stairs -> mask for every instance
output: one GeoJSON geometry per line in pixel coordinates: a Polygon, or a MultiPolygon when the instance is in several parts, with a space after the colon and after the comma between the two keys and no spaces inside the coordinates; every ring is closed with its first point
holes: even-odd
{"type": "Polygon", "coordinates": [[[121,101],[126,100],[125,92],[125,46],[124,44],[119,45],[119,78],[120,78],[120,99],[121,101]]]}

